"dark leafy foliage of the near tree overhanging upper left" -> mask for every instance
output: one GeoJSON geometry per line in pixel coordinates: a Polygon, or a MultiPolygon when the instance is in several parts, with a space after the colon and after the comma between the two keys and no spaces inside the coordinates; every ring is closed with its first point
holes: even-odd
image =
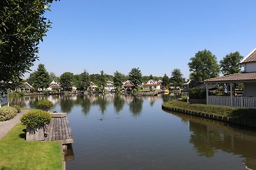
{"type": "Polygon", "coordinates": [[[17,87],[38,59],[38,44],[51,27],[43,15],[52,1],[0,1],[0,90],[17,87]]]}

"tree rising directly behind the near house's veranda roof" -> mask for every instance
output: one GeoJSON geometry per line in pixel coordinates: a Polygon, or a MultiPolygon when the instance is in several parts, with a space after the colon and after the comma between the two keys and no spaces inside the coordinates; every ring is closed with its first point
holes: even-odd
{"type": "Polygon", "coordinates": [[[239,52],[228,53],[226,57],[220,60],[221,73],[227,75],[241,72],[240,61],[242,59],[243,56],[239,52]]]}

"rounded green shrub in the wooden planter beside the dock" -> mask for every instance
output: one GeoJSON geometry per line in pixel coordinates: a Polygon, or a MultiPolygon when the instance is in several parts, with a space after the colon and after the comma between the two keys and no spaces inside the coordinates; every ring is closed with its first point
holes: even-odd
{"type": "Polygon", "coordinates": [[[51,115],[47,111],[31,110],[20,118],[21,124],[26,127],[36,128],[38,125],[46,125],[51,122],[51,115]]]}

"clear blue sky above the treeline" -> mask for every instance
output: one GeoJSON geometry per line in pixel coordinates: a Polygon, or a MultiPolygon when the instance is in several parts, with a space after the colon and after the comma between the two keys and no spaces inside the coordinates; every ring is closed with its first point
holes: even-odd
{"type": "Polygon", "coordinates": [[[189,77],[195,53],[210,50],[220,61],[256,47],[255,0],[61,0],[45,17],[52,29],[40,44],[39,63],[60,76],[128,74],[189,77]]]}

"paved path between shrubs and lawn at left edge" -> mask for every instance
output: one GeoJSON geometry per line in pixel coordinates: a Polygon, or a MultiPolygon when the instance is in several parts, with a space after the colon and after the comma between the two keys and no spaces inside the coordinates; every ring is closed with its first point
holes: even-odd
{"type": "Polygon", "coordinates": [[[27,113],[29,110],[21,110],[12,120],[0,122],[0,139],[3,138],[16,124],[20,123],[22,115],[27,113]]]}

